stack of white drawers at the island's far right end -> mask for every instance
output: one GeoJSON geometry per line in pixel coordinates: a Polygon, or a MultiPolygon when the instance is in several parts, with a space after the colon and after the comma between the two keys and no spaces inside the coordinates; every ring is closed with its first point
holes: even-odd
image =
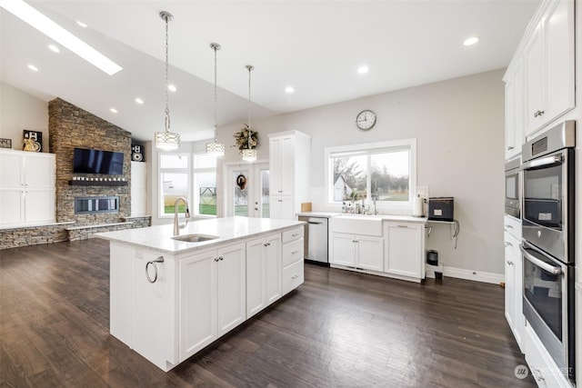
{"type": "Polygon", "coordinates": [[[281,271],[281,293],[284,295],[295,290],[304,282],[304,237],[305,228],[303,226],[282,234],[281,256],[283,270],[281,271]]]}

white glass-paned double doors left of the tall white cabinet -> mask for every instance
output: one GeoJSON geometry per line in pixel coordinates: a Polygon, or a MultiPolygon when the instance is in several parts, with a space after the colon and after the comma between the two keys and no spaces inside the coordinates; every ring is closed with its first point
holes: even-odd
{"type": "Polygon", "coordinates": [[[231,164],[225,171],[225,215],[269,218],[269,164],[231,164]]]}

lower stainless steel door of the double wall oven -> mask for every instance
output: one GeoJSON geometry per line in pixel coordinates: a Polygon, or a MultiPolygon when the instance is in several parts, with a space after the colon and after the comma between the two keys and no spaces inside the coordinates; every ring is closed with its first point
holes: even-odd
{"type": "Polygon", "coordinates": [[[524,258],[524,315],[560,370],[574,376],[574,267],[527,242],[524,258]]]}

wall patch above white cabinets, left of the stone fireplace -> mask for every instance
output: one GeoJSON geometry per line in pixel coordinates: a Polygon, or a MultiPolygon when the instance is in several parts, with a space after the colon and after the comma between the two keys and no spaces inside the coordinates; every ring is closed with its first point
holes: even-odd
{"type": "Polygon", "coordinates": [[[0,82],[0,137],[22,150],[25,129],[42,132],[43,152],[48,152],[48,103],[0,82]]]}

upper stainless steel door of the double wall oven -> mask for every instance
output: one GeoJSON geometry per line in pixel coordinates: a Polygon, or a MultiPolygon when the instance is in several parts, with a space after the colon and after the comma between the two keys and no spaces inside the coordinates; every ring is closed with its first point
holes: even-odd
{"type": "Polygon", "coordinates": [[[547,254],[573,263],[574,149],[532,159],[522,164],[524,201],[522,235],[547,254]],[[569,206],[569,207],[568,207],[569,206]]]}

